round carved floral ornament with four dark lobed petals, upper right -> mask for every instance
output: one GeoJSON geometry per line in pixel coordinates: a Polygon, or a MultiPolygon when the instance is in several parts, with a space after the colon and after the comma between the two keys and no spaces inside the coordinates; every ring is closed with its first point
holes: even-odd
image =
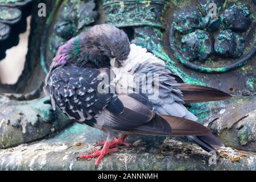
{"type": "Polygon", "coordinates": [[[224,0],[198,0],[197,5],[174,14],[170,43],[177,59],[201,72],[226,72],[247,63],[256,52],[255,38],[245,43],[246,37],[255,36],[250,5],[224,0]],[[212,2],[216,15],[208,6],[212,2]]]}

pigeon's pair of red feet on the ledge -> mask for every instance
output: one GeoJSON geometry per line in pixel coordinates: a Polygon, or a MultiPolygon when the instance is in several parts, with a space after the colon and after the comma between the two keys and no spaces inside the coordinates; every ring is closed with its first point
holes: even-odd
{"type": "Polygon", "coordinates": [[[81,155],[77,158],[77,160],[80,160],[80,159],[89,159],[89,158],[96,158],[98,156],[98,159],[96,160],[96,163],[95,163],[95,168],[97,169],[98,168],[98,164],[100,164],[101,162],[101,159],[104,158],[104,156],[106,154],[109,154],[111,152],[117,152],[118,149],[117,148],[113,148],[115,146],[118,146],[119,144],[123,144],[125,146],[130,146],[129,143],[127,142],[123,142],[123,140],[125,140],[125,138],[127,137],[128,135],[127,134],[123,134],[120,138],[118,139],[114,139],[112,140],[111,142],[98,142],[97,145],[98,146],[102,146],[103,145],[103,148],[102,150],[97,150],[96,148],[93,148],[93,154],[89,154],[89,155],[81,155]]]}

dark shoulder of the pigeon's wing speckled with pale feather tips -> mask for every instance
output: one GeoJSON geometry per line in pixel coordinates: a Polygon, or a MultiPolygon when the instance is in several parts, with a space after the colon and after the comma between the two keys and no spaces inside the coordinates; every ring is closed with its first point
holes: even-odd
{"type": "Polygon", "coordinates": [[[123,105],[112,90],[113,85],[101,85],[105,91],[97,91],[102,84],[99,77],[108,74],[110,71],[107,68],[83,68],[76,65],[54,69],[48,82],[53,109],[59,107],[69,118],[80,122],[92,119],[105,108],[113,113],[122,113],[123,105]]]}

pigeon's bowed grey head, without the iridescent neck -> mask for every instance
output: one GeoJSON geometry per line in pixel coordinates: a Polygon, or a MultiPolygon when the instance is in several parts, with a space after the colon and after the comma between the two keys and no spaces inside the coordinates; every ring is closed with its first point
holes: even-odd
{"type": "MultiPolygon", "coordinates": [[[[96,57],[98,61],[113,57],[122,61],[130,52],[130,42],[125,32],[109,24],[93,26],[83,32],[79,38],[82,40],[81,52],[96,57]]],[[[106,64],[106,61],[104,63],[106,64]]]]}

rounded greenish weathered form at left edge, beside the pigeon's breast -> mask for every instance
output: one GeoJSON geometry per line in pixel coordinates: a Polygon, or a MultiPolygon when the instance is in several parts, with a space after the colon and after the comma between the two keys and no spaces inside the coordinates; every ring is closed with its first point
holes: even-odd
{"type": "Polygon", "coordinates": [[[0,148],[46,137],[70,123],[63,114],[53,113],[47,100],[13,101],[0,96],[0,148]]]}

